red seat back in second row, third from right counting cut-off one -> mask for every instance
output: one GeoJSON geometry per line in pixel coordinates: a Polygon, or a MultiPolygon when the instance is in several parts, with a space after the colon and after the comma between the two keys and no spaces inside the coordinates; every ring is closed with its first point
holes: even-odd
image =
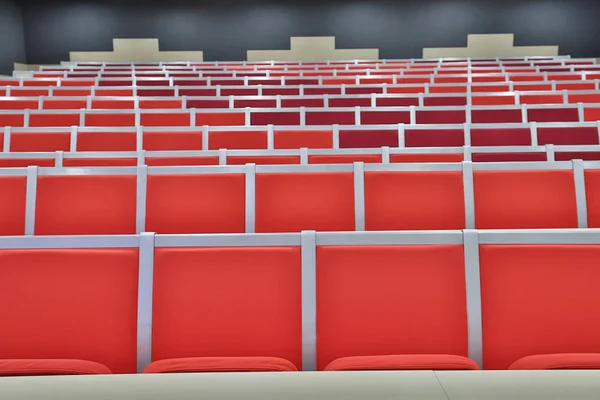
{"type": "Polygon", "coordinates": [[[365,172],[365,227],[464,229],[463,193],[461,171],[365,172]]]}

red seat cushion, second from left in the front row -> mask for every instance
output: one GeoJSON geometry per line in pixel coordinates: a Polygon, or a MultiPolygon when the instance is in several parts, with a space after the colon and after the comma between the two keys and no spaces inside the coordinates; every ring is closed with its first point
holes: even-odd
{"type": "Polygon", "coordinates": [[[290,361],[277,357],[192,357],[155,361],[145,374],[181,372],[284,372],[298,371],[290,361]]]}

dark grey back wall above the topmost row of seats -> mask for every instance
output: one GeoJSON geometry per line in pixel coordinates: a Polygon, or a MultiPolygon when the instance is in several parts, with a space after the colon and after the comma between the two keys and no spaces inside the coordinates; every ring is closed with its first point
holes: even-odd
{"type": "Polygon", "coordinates": [[[335,36],[338,48],[417,58],[423,47],[466,46],[469,33],[514,33],[516,45],[600,56],[599,0],[14,1],[16,10],[0,0],[5,73],[13,61],[58,63],[69,51],[111,51],[113,38],[136,37],[159,38],[161,50],[203,50],[207,61],[288,49],[290,36],[335,36]]]}

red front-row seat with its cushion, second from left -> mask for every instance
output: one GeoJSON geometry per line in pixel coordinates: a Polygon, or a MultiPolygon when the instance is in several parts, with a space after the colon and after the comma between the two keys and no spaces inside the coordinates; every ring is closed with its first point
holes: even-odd
{"type": "Polygon", "coordinates": [[[155,250],[145,373],[302,368],[300,247],[267,246],[155,250]]]}

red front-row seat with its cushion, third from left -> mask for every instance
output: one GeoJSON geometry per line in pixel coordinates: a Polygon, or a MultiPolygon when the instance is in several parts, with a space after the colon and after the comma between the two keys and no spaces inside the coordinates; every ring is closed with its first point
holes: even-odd
{"type": "Polygon", "coordinates": [[[317,246],[317,369],[478,369],[462,245],[358,240],[317,246]]]}

